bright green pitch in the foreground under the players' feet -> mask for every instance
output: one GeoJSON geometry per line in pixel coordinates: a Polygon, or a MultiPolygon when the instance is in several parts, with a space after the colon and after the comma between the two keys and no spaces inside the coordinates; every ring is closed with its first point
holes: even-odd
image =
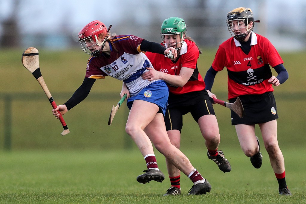
{"type": "Polygon", "coordinates": [[[187,196],[192,182],[181,175],[182,195],[163,197],[170,186],[164,157],[156,152],[162,183],[140,184],[145,169],[139,151],[18,151],[0,156],[0,203],[305,203],[306,156],[283,150],[287,184],[293,196],[278,195],[267,153],[252,167],[242,151],[226,150],[232,171],[223,173],[205,151],[185,149],[193,165],[210,181],[211,193],[187,196]]]}

